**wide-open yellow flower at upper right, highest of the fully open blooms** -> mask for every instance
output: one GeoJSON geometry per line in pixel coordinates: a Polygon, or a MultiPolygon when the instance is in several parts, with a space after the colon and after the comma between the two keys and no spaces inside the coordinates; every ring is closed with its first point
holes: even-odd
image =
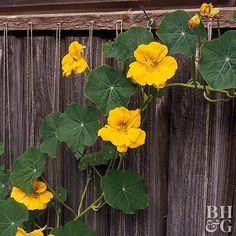
{"type": "Polygon", "coordinates": [[[178,68],[174,57],[166,56],[168,48],[157,42],[141,44],[134,51],[135,62],[129,65],[128,78],[142,86],[163,88],[178,68]]]}

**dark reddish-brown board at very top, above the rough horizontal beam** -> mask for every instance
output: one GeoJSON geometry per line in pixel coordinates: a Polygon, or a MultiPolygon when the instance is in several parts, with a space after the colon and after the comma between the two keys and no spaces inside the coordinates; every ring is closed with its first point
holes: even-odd
{"type": "MultiPolygon", "coordinates": [[[[214,6],[235,6],[234,0],[214,0],[214,6]]],[[[201,0],[1,0],[0,14],[108,12],[122,10],[174,9],[199,7],[201,0]]]]}

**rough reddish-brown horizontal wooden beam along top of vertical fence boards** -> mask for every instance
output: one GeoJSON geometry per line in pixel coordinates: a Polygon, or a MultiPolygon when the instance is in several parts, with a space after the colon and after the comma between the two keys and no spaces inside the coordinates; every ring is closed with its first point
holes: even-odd
{"type": "MultiPolygon", "coordinates": [[[[223,28],[236,28],[232,20],[233,11],[236,7],[221,8],[220,26],[223,28]]],[[[153,28],[157,28],[163,16],[173,10],[149,10],[147,14],[154,20],[153,28]]],[[[186,9],[193,15],[199,9],[186,9]]],[[[58,23],[62,30],[88,30],[93,21],[94,30],[114,30],[117,21],[122,20],[123,29],[131,26],[147,26],[147,19],[142,11],[119,11],[119,12],[96,12],[96,13],[67,13],[67,14],[35,14],[35,15],[12,15],[0,16],[0,27],[3,29],[7,24],[9,30],[25,30],[29,23],[33,24],[34,30],[53,30],[58,23]]],[[[213,27],[217,23],[213,22],[213,27]]]]}

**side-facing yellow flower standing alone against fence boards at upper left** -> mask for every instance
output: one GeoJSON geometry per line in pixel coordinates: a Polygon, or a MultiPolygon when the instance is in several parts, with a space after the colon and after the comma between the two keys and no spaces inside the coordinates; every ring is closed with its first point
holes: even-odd
{"type": "Polygon", "coordinates": [[[81,45],[77,41],[70,44],[69,53],[62,59],[63,76],[70,76],[72,71],[76,74],[80,74],[88,68],[87,61],[83,55],[84,48],[86,48],[86,46],[81,45]]]}

